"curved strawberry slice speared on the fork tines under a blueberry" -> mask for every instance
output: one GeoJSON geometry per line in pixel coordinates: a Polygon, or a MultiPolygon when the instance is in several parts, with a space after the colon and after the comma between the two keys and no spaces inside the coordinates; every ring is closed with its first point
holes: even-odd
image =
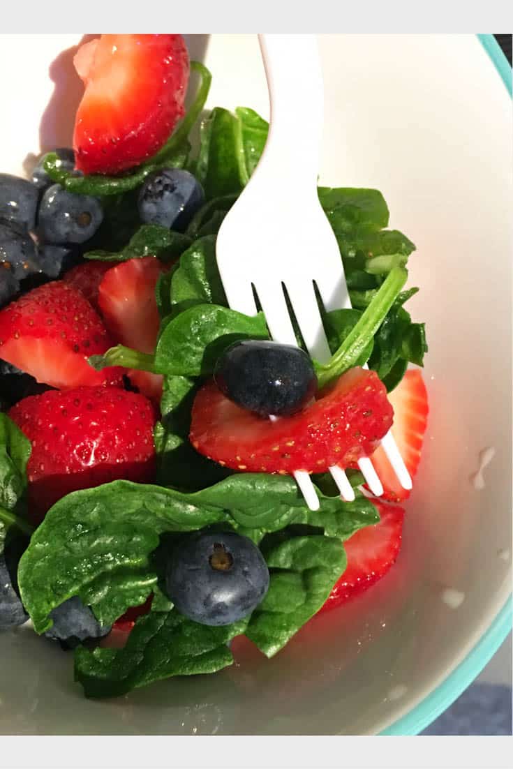
{"type": "Polygon", "coordinates": [[[375,371],[351,368],[313,404],[275,422],[229,401],[206,384],[192,406],[189,439],[200,454],[228,468],[291,474],[348,467],[371,454],[392,421],[375,371]]]}

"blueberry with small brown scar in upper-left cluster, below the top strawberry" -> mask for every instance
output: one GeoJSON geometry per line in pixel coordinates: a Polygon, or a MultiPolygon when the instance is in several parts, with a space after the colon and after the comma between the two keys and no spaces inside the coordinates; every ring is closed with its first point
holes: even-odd
{"type": "Polygon", "coordinates": [[[84,243],[103,221],[98,198],[75,195],[61,185],[48,187],[39,205],[38,229],[46,243],[84,243]]]}

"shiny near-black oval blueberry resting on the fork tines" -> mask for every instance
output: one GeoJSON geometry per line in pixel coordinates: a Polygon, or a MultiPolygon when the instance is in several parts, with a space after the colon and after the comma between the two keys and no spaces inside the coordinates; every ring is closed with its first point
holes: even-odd
{"type": "Polygon", "coordinates": [[[275,341],[235,342],[218,358],[214,378],[227,398],[262,417],[294,414],[317,389],[308,355],[275,341]]]}

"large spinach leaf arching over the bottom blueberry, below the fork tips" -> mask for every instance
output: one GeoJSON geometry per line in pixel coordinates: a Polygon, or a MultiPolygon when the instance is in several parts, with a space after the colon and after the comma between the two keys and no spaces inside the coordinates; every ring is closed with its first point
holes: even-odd
{"type": "Polygon", "coordinates": [[[52,625],[51,611],[78,595],[102,624],[157,591],[162,574],[153,557],[159,537],[211,526],[277,531],[309,524],[338,541],[378,516],[365,498],[342,502],[319,495],[309,511],[295,481],[285,476],[237,474],[211,488],[172,488],[113,481],[59,500],[32,535],[18,581],[37,633],[52,625]]]}

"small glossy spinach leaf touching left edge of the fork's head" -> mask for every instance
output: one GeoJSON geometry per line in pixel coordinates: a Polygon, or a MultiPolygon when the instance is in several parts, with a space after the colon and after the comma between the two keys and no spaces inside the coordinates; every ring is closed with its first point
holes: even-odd
{"type": "Polygon", "coordinates": [[[225,291],[215,258],[215,238],[195,241],[180,257],[171,280],[171,306],[178,314],[192,305],[226,305],[225,291]]]}

